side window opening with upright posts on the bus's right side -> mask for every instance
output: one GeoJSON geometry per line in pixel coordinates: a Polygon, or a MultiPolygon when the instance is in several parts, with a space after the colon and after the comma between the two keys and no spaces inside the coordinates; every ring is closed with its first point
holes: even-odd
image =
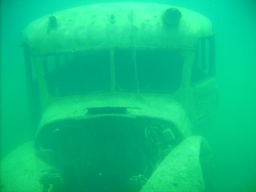
{"type": "Polygon", "coordinates": [[[215,44],[214,36],[198,40],[196,58],[191,74],[191,84],[215,76],[215,44]]]}

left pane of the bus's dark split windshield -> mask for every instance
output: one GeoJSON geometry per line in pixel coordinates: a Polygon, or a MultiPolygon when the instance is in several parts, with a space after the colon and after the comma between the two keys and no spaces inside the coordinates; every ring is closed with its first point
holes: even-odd
{"type": "Polygon", "coordinates": [[[44,68],[52,95],[106,91],[110,84],[108,51],[48,56],[44,68]]]}

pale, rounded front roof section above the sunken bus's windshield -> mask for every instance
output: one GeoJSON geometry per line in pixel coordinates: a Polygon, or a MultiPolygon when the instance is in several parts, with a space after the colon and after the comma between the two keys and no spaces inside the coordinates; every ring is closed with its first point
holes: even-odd
{"type": "Polygon", "coordinates": [[[104,3],[80,6],[35,20],[23,32],[32,54],[90,49],[194,49],[200,37],[214,35],[203,15],[172,5],[104,3]],[[178,23],[163,19],[177,8],[178,23]],[[55,20],[56,19],[56,20],[55,20]]]}

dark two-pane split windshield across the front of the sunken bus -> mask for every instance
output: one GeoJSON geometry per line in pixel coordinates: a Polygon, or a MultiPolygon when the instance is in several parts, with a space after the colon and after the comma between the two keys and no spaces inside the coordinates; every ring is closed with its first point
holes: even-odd
{"type": "MultiPolygon", "coordinates": [[[[108,92],[111,87],[109,51],[47,56],[45,78],[51,95],[108,92]]],[[[169,50],[115,50],[115,92],[179,90],[183,57],[169,50]]]]}

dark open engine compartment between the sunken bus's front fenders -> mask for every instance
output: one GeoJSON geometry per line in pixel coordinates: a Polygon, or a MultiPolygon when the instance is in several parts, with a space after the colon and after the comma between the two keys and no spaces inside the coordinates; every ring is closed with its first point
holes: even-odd
{"type": "Polygon", "coordinates": [[[140,191],[182,141],[174,124],[154,118],[105,115],[48,126],[37,155],[56,168],[41,180],[53,191],[140,191]]]}

